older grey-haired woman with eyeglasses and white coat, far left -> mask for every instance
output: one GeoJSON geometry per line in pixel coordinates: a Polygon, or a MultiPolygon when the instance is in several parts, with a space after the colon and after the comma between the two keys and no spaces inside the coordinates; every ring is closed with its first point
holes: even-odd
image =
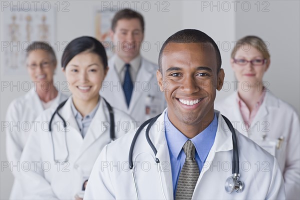
{"type": "Polygon", "coordinates": [[[6,122],[6,155],[14,183],[10,199],[22,198],[22,190],[18,181],[19,163],[22,150],[29,136],[30,129],[40,125],[42,121],[34,121],[46,108],[56,107],[67,96],[57,91],[53,84],[56,68],[56,57],[51,46],[45,42],[33,42],[26,49],[26,65],[33,88],[25,95],[14,99],[8,106],[6,122]]]}

